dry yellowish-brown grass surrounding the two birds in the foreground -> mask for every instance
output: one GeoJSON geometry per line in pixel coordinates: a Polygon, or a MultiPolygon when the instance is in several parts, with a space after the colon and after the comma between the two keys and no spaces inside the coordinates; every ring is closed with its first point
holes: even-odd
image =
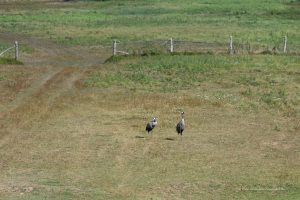
{"type": "Polygon", "coordinates": [[[122,89],[65,93],[46,117],[23,112],[34,123],[5,142],[4,194],[32,187],[38,196],[69,191],[78,199],[246,199],[255,193],[249,188],[282,187],[274,195],[285,195],[297,184],[299,137],[281,115],[122,89]],[[181,109],[187,121],[182,139],[175,133],[181,109]],[[152,116],[159,124],[148,136],[144,126],[152,116]]]}

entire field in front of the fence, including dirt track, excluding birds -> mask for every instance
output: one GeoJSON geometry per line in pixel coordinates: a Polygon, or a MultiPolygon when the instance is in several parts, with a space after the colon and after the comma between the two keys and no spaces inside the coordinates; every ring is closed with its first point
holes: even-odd
{"type": "Polygon", "coordinates": [[[0,199],[300,198],[298,55],[105,62],[111,49],[0,33],[14,40],[32,50],[0,65],[0,199]]]}

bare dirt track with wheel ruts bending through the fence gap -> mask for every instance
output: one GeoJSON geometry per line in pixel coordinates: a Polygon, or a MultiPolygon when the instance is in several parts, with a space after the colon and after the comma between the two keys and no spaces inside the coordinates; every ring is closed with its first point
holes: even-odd
{"type": "Polygon", "coordinates": [[[32,121],[47,115],[59,97],[75,89],[76,81],[84,76],[86,70],[101,65],[105,59],[88,48],[66,47],[44,39],[0,33],[0,41],[14,40],[34,49],[32,54],[21,56],[24,67],[47,70],[0,110],[2,139],[13,129],[28,126],[32,121]]]}

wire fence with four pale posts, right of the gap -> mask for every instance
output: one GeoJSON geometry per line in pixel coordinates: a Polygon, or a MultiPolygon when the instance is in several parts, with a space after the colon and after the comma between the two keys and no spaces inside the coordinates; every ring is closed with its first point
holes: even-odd
{"type": "Polygon", "coordinates": [[[225,42],[193,42],[169,40],[113,41],[113,55],[151,55],[161,53],[223,53],[223,54],[300,54],[300,46],[288,44],[287,36],[274,44],[243,42],[232,36],[225,42]]]}

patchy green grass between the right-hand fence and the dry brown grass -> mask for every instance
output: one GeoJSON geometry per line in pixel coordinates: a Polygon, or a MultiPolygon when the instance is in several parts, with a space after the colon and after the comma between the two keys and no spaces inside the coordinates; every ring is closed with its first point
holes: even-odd
{"type": "Polygon", "coordinates": [[[296,111],[299,57],[279,55],[155,55],[110,59],[84,81],[86,87],[198,94],[213,105],[246,111],[259,107],[296,111]]]}

